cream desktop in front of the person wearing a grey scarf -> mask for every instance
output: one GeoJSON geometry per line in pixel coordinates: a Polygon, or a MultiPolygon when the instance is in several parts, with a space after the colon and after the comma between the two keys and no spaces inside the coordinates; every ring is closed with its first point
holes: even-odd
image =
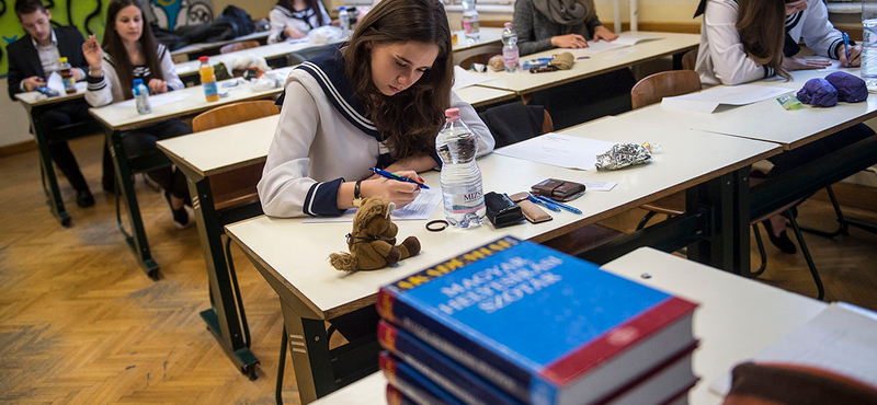
{"type": "MultiPolygon", "coordinates": [[[[576,60],[576,63],[572,65],[572,69],[569,70],[531,73],[522,69],[515,73],[490,71],[479,74],[489,74],[497,78],[496,80],[482,83],[485,86],[509,90],[524,96],[539,90],[550,89],[569,82],[603,74],[613,70],[624,69],[630,66],[647,62],[649,60],[659,59],[668,55],[683,54],[690,49],[696,48],[701,44],[701,36],[697,34],[649,32],[640,32],[640,34],[660,36],[661,39],[646,40],[634,45],[633,47],[625,47],[617,50],[591,55],[589,59],[576,60]],[[616,54],[620,55],[622,53],[628,51],[628,49],[636,49],[636,51],[615,57],[616,54]]],[[[523,56],[521,57],[521,62],[523,63],[524,60],[535,58],[550,58],[553,55],[557,54],[558,50],[559,49],[549,49],[523,56]]],[[[576,50],[572,50],[572,54],[577,57],[585,56],[585,54],[578,53],[576,50]]]]}

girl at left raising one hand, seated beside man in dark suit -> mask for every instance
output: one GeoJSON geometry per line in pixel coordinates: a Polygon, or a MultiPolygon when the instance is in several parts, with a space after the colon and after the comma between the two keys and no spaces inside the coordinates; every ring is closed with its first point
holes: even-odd
{"type": "MultiPolygon", "coordinates": [[[[86,101],[93,107],[130,100],[134,79],[143,79],[149,94],[183,88],[170,51],[156,43],[137,0],[112,0],[106,9],[103,48],[92,35],[82,44],[82,53],[89,66],[86,101]]],[[[184,134],[192,134],[192,129],[172,118],[128,131],[122,136],[122,141],[125,154],[135,158],[155,152],[156,141],[160,139],[184,134]]],[[[171,167],[157,169],[148,174],[164,189],[173,223],[179,228],[187,227],[189,212],[183,204],[189,196],[185,175],[171,167]]]]}

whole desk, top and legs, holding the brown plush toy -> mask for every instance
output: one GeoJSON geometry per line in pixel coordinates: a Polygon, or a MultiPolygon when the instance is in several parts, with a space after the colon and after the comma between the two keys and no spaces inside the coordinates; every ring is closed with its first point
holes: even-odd
{"type": "MultiPolygon", "coordinates": [[[[657,154],[654,162],[649,165],[607,172],[568,170],[496,153],[485,157],[478,161],[485,190],[515,193],[529,189],[531,185],[547,177],[580,182],[618,182],[618,185],[612,192],[585,193],[584,197],[570,201],[570,205],[583,211],[581,216],[566,211],[551,212],[551,221],[515,225],[500,231],[486,224],[472,230],[428,232],[424,221],[397,221],[399,236],[417,235],[423,251],[397,266],[376,271],[348,275],[329,265],[327,257],[330,253],[346,251],[344,234],[350,232],[350,223],[303,223],[301,218],[278,219],[262,216],[226,227],[227,234],[241,247],[281,298],[303,403],[315,401],[339,385],[362,377],[351,373],[351,369],[362,371],[364,366],[374,366],[363,363],[368,358],[369,350],[374,356],[374,340],[352,348],[342,346],[329,350],[323,321],[373,304],[380,286],[503,234],[542,242],[687,188],[706,187],[710,192],[709,198],[693,199],[708,211],[703,215],[698,212],[693,222],[701,223],[707,221],[707,217],[714,218],[722,222],[710,228],[728,233],[732,230],[729,223],[732,208],[729,202],[732,197],[731,180],[740,172],[748,173],[752,163],[779,152],[777,146],[766,142],[677,128],[664,130],[642,127],[622,118],[601,119],[566,132],[612,141],[658,142],[662,144],[663,152],[657,154]],[[703,153],[692,153],[692,150],[701,150],[703,153]],[[349,352],[352,355],[348,355],[349,352]],[[348,370],[349,374],[344,375],[342,369],[348,370]]],[[[429,185],[438,184],[437,172],[423,173],[422,176],[429,185]]],[[[432,219],[441,219],[443,216],[443,210],[438,208],[433,212],[432,219]]],[[[682,232],[681,228],[675,231],[682,232]]],[[[685,238],[685,241],[697,238],[699,242],[695,245],[706,244],[704,248],[696,248],[694,245],[690,247],[694,257],[719,263],[726,269],[730,267],[729,262],[732,258],[725,256],[730,252],[725,247],[730,243],[726,243],[731,239],[730,235],[713,234],[695,228],[685,228],[684,232],[684,235],[676,238],[685,238]]],[[[654,232],[650,231],[648,238],[654,232]]],[[[651,243],[654,240],[648,238],[640,243],[651,243]]],[[[676,246],[669,248],[674,250],[676,246]]]]}

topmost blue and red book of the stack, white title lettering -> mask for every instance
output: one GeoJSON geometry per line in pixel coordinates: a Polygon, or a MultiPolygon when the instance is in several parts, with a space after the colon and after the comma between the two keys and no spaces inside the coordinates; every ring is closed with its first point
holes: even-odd
{"type": "Polygon", "coordinates": [[[536,405],[596,404],[653,372],[695,344],[695,306],[512,236],[377,297],[385,320],[536,405]]]}

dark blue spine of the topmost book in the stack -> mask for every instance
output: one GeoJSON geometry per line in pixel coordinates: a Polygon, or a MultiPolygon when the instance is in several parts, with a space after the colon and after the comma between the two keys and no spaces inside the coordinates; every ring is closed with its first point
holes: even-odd
{"type": "Polygon", "coordinates": [[[557,397],[557,387],[548,381],[488,350],[481,342],[474,340],[437,322],[386,287],[378,291],[377,311],[385,320],[411,333],[523,403],[551,404],[557,397]],[[540,387],[536,391],[539,398],[531,397],[532,386],[540,387]]]}

